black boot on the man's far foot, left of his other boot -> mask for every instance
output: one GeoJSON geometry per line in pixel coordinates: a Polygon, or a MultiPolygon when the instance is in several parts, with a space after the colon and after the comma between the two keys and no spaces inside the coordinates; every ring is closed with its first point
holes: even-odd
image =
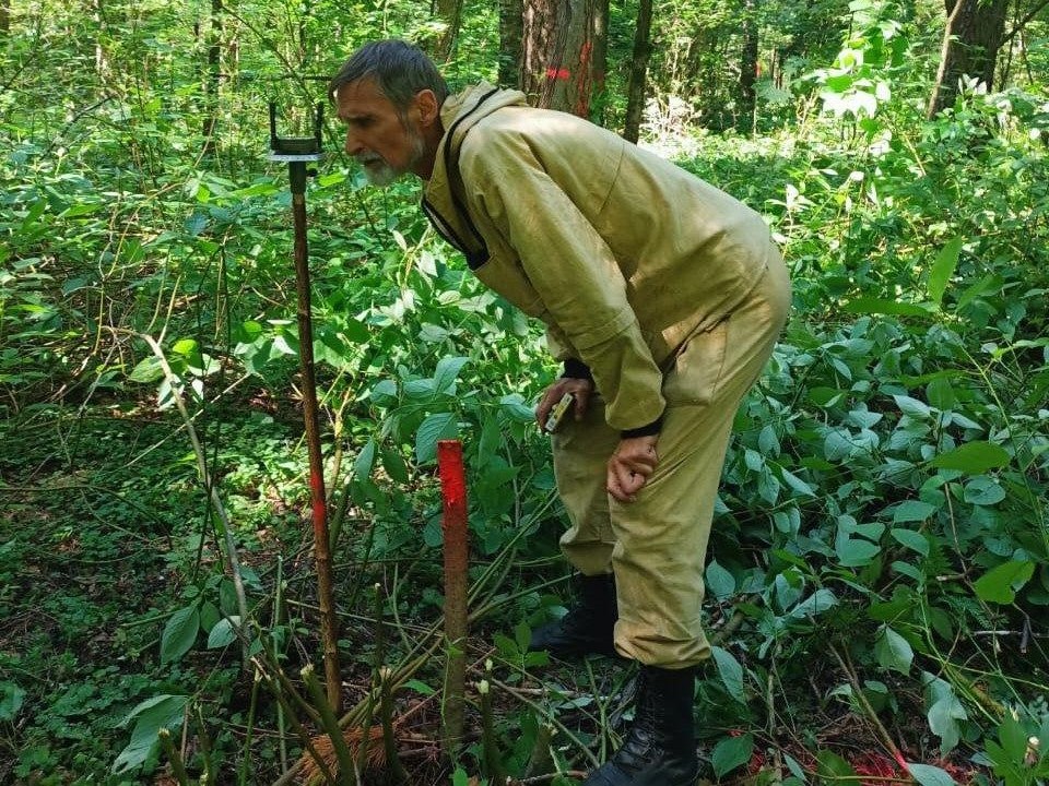
{"type": "Polygon", "coordinates": [[[615,579],[611,574],[580,576],[579,604],[556,622],[532,631],[530,652],[546,650],[559,658],[597,654],[616,657],[613,630],[618,612],[615,607],[615,579]]]}

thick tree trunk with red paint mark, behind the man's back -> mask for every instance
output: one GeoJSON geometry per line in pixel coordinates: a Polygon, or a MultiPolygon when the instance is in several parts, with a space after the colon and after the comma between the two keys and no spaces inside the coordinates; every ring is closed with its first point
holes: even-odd
{"type": "Polygon", "coordinates": [[[535,106],[590,115],[596,0],[524,0],[521,82],[535,106]]]}

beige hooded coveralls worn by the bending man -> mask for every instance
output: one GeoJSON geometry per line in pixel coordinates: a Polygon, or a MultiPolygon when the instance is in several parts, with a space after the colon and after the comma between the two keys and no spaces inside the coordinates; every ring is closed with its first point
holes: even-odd
{"type": "Polygon", "coordinates": [[[624,655],[691,666],[709,656],[703,573],[733,416],[790,303],[768,228],[673,164],[515,91],[478,85],[441,120],[424,210],[600,393],[554,437],[565,555],[586,574],[614,571],[624,655]],[[621,504],[605,462],[622,430],[660,418],[656,472],[621,504]]]}

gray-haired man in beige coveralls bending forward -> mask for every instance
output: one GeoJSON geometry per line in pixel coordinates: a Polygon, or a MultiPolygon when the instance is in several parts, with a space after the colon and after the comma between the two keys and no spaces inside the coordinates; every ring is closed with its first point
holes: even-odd
{"type": "Polygon", "coordinates": [[[450,96],[423,52],[368,44],[330,85],[376,184],[412,172],[474,274],[547,329],[573,417],[553,434],[581,603],[533,648],[640,664],[634,724],[591,786],[691,786],[714,503],[735,410],[787,318],[757,213],[586,120],[480,84],[450,96]]]}

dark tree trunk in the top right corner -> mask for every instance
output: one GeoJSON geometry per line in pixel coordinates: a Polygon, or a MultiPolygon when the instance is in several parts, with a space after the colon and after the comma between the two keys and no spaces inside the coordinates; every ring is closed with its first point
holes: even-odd
{"type": "Polygon", "coordinates": [[[947,24],[929,100],[930,119],[954,104],[962,76],[974,76],[988,90],[994,86],[994,66],[1005,33],[1009,0],[945,0],[945,5],[947,24]]]}

